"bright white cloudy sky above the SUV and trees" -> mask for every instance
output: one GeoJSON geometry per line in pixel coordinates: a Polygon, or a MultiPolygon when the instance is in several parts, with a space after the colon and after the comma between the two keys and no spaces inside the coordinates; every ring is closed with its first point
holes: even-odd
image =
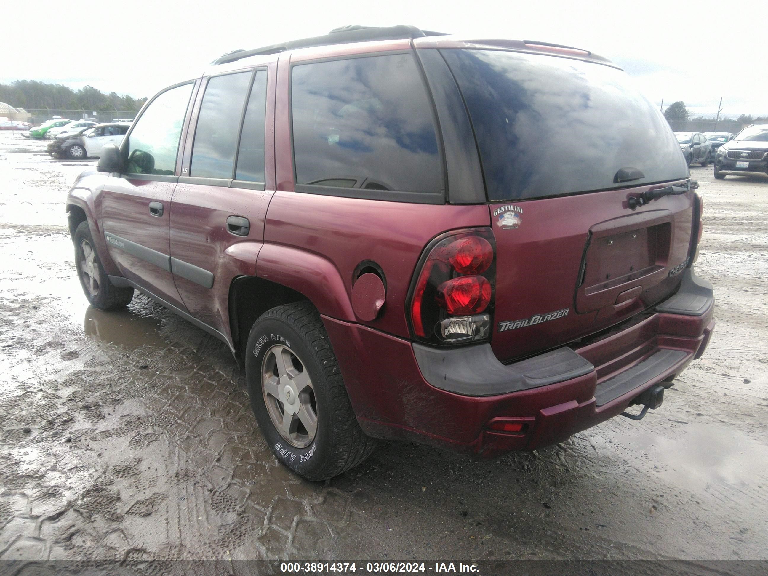
{"type": "MultiPolygon", "coordinates": [[[[134,97],[199,75],[234,48],[341,25],[412,24],[473,38],[550,41],[607,56],[650,101],[694,114],[768,114],[768,1],[15,2],[0,32],[0,82],[40,80],[134,97]],[[27,8],[29,6],[30,8],[27,8]],[[10,16],[10,18],[8,18],[10,16]]],[[[13,104],[10,102],[9,104],[13,104]]]]}

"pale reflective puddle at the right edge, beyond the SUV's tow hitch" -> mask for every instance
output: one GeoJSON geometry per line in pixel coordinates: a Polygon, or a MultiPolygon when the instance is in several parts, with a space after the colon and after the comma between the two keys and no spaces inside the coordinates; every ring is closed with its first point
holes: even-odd
{"type": "Polygon", "coordinates": [[[677,485],[746,486],[768,478],[768,445],[720,423],[667,428],[667,435],[637,429],[614,437],[615,442],[644,453],[677,485]]]}

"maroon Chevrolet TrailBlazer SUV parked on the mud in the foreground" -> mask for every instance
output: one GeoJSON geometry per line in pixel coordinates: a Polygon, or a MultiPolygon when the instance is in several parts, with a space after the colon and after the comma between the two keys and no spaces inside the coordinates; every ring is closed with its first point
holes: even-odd
{"type": "Polygon", "coordinates": [[[222,339],[317,480],[375,439],[490,458],[657,408],[714,326],[694,187],[605,58],[348,27],[161,91],[67,210],[91,304],[222,339]]]}

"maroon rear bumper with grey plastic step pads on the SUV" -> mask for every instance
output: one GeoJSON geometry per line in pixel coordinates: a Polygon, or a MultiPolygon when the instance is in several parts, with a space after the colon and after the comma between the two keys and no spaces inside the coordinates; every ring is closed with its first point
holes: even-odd
{"type": "Polygon", "coordinates": [[[684,274],[680,290],[641,322],[508,366],[487,344],[435,350],[323,319],[367,434],[492,458],[603,422],[700,357],[714,329],[712,288],[692,270],[684,274]],[[495,419],[523,429],[493,432],[495,419]]]}

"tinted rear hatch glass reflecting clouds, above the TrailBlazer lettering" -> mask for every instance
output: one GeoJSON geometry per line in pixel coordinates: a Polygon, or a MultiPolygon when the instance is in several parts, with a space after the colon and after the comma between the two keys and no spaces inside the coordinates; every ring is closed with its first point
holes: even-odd
{"type": "Polygon", "coordinates": [[[687,177],[667,121],[624,72],[510,51],[441,52],[475,128],[489,200],[687,177]],[[614,182],[629,167],[644,177],[614,182]]]}

